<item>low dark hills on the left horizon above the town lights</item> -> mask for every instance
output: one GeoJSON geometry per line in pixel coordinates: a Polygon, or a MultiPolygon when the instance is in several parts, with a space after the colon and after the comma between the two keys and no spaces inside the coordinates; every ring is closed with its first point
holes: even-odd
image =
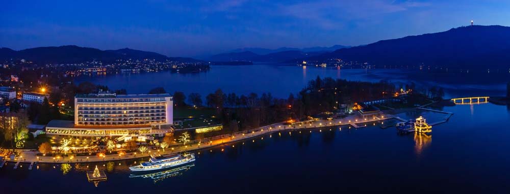
{"type": "Polygon", "coordinates": [[[155,59],[157,61],[197,61],[185,57],[167,57],[155,52],[134,50],[130,48],[118,50],[99,50],[96,48],[74,45],[59,47],[36,47],[19,51],[0,48],[0,60],[25,59],[40,63],[74,63],[91,60],[113,61],[116,59],[155,59]]]}

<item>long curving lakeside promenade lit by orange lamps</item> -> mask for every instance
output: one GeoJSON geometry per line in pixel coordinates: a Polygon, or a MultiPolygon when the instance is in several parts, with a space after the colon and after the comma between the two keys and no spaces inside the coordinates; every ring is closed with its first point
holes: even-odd
{"type": "MultiPolygon", "coordinates": [[[[206,138],[203,140],[194,140],[188,142],[186,145],[172,146],[169,148],[163,149],[159,148],[158,150],[148,149],[145,153],[140,153],[139,151],[135,153],[127,153],[125,155],[119,156],[117,154],[107,154],[104,157],[99,157],[97,155],[89,155],[89,156],[68,156],[68,157],[53,157],[53,156],[37,156],[39,151],[21,151],[18,158],[15,160],[9,160],[10,162],[21,162],[21,163],[96,163],[102,161],[115,161],[115,160],[125,160],[125,159],[134,159],[134,158],[142,158],[148,157],[151,154],[170,154],[177,153],[183,151],[194,151],[207,149],[223,144],[233,143],[237,141],[242,141],[250,138],[255,138],[258,136],[263,136],[266,134],[271,134],[275,132],[281,132],[286,130],[310,130],[314,128],[322,128],[322,127],[337,127],[342,125],[353,126],[354,128],[366,126],[366,122],[374,122],[381,121],[386,119],[392,119],[394,116],[385,115],[384,117],[372,118],[372,119],[361,119],[359,117],[348,116],[341,119],[332,119],[332,120],[318,120],[311,121],[306,124],[295,124],[295,125],[285,125],[284,122],[274,123],[267,126],[262,126],[258,128],[254,128],[252,130],[246,130],[242,132],[237,132],[234,134],[227,134],[221,136],[215,136],[212,138],[206,138]]],[[[71,154],[72,155],[72,154],[71,154]]]]}

